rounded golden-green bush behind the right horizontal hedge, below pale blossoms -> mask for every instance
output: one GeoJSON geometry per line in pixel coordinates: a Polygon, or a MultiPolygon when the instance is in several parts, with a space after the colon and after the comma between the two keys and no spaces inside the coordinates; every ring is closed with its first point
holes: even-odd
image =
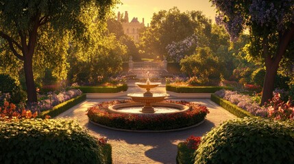
{"type": "Polygon", "coordinates": [[[180,61],[182,72],[189,77],[196,76],[201,79],[201,83],[207,83],[210,79],[219,79],[220,68],[219,59],[212,55],[208,48],[198,48],[195,55],[185,57],[180,61]]]}

